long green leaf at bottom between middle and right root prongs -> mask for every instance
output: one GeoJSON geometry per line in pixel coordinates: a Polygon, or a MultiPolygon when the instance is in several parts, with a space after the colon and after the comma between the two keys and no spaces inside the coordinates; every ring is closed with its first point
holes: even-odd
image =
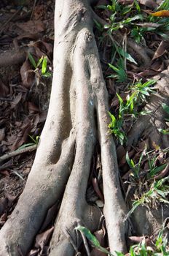
{"type": "MultiPolygon", "coordinates": [[[[79,226],[75,227],[75,230],[79,230],[80,232],[82,232],[84,234],[84,236],[86,236],[87,239],[93,244],[93,246],[95,246],[95,248],[97,248],[101,252],[105,252],[106,254],[111,255],[111,253],[108,250],[106,250],[105,248],[103,248],[101,246],[98,239],[95,236],[93,236],[93,234],[90,232],[90,230],[88,230],[86,227],[79,225],[79,226]]],[[[111,256],[113,256],[113,255],[111,255],[111,256]]]]}

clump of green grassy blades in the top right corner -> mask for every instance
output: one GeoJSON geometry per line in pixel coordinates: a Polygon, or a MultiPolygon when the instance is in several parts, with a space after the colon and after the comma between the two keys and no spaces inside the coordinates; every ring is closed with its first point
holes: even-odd
{"type": "MultiPolygon", "coordinates": [[[[146,14],[141,10],[137,0],[133,1],[133,4],[127,5],[120,4],[117,0],[111,0],[111,4],[101,5],[98,8],[111,12],[109,24],[102,28],[102,31],[106,29],[108,34],[127,27],[130,29],[130,36],[136,42],[144,42],[146,32],[149,31],[160,34],[162,37],[168,37],[165,34],[169,30],[168,18],[154,17],[151,13],[146,14]]],[[[168,0],[162,1],[154,11],[159,10],[169,10],[168,0]]]]}

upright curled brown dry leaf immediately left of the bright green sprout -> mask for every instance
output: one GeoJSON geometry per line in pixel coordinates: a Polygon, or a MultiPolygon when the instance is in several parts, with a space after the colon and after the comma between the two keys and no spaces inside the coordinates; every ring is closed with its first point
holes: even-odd
{"type": "Polygon", "coordinates": [[[31,69],[31,64],[29,63],[28,59],[25,60],[22,67],[20,68],[20,75],[22,78],[23,86],[26,88],[31,88],[34,84],[34,72],[31,69]]]}

